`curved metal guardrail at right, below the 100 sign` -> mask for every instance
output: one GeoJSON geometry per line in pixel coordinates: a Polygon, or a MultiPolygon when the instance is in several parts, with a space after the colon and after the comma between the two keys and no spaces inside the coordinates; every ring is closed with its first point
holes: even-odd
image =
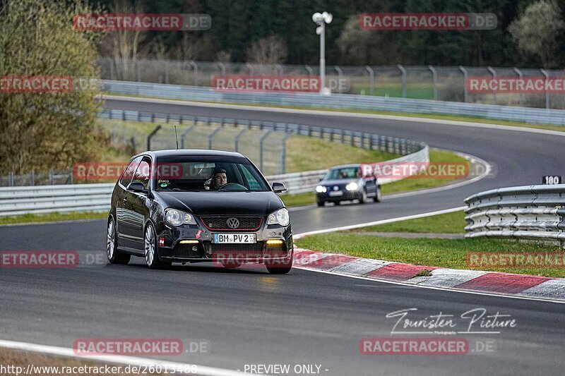
{"type": "Polygon", "coordinates": [[[487,190],[465,203],[465,237],[565,241],[565,184],[487,190]]]}

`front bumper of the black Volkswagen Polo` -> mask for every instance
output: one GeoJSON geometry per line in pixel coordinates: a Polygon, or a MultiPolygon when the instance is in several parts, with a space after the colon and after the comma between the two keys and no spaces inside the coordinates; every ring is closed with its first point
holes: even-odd
{"type": "Polygon", "coordinates": [[[211,231],[201,225],[164,224],[157,240],[159,258],[168,262],[284,263],[292,260],[291,225],[286,227],[278,224],[267,225],[266,220],[263,220],[263,224],[256,231],[211,231]],[[215,233],[254,233],[256,243],[217,244],[213,243],[215,233]]]}

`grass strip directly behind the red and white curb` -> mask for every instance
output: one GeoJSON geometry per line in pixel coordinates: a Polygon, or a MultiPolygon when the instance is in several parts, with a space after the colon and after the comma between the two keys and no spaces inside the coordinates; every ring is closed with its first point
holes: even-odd
{"type": "MultiPolygon", "coordinates": [[[[345,232],[307,236],[297,239],[295,243],[299,247],[309,250],[451,269],[475,269],[469,268],[467,265],[468,252],[544,253],[561,250],[557,246],[542,243],[521,243],[516,240],[494,238],[381,238],[345,232]]],[[[496,269],[480,267],[476,269],[545,277],[565,277],[564,267],[506,267],[496,269]]]]}

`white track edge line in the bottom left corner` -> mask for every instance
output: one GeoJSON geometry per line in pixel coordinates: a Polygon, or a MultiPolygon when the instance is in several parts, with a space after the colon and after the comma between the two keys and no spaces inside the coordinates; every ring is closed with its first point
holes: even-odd
{"type": "MultiPolygon", "coordinates": [[[[28,342],[20,342],[20,341],[8,341],[5,339],[0,339],[0,347],[4,348],[12,348],[14,350],[22,350],[22,351],[31,351],[34,353],[47,353],[50,355],[56,356],[64,356],[66,358],[77,358],[77,359],[85,359],[85,360],[93,360],[99,362],[107,362],[107,363],[117,363],[123,365],[162,365],[168,366],[169,368],[174,368],[177,370],[179,367],[182,369],[183,367],[195,366],[194,364],[190,363],[179,363],[179,362],[170,362],[167,360],[159,360],[159,359],[150,359],[150,358],[138,358],[134,356],[113,356],[113,355],[103,355],[103,356],[77,356],[75,355],[72,348],[65,348],[59,346],[47,346],[47,345],[40,345],[40,344],[31,344],[28,342]]],[[[205,365],[196,365],[196,372],[177,372],[183,373],[185,375],[203,375],[203,376],[240,376],[244,375],[244,372],[238,372],[235,370],[226,370],[223,368],[214,368],[208,367],[205,365]]]]}

